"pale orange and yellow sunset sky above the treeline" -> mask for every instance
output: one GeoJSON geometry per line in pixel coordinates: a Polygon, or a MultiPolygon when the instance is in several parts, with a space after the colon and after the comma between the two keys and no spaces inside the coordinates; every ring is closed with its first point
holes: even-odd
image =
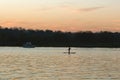
{"type": "Polygon", "coordinates": [[[120,31],[120,0],[0,0],[0,25],[62,31],[120,31]]]}

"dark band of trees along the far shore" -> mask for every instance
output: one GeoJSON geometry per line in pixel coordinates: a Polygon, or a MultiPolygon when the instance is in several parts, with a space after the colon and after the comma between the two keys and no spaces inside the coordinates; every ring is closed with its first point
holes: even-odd
{"type": "Polygon", "coordinates": [[[120,33],[0,28],[0,46],[22,46],[26,42],[39,47],[120,47],[120,33]]]}

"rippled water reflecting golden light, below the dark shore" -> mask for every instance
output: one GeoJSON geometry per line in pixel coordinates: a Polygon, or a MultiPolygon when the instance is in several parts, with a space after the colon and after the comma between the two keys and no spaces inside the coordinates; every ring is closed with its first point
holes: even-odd
{"type": "Polygon", "coordinates": [[[0,80],[120,80],[120,48],[0,47],[0,80]]]}

